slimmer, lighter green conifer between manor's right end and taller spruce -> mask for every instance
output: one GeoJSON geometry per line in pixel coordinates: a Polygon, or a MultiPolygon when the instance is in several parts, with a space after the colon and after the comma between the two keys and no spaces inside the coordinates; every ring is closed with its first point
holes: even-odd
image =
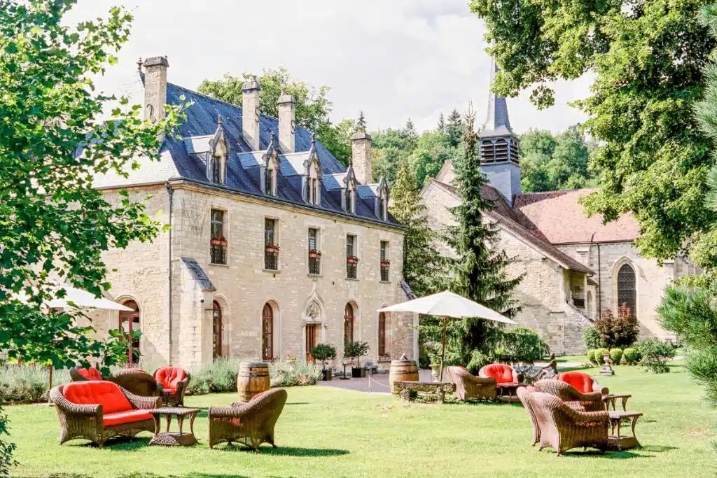
{"type": "Polygon", "coordinates": [[[414,174],[404,157],[391,188],[391,214],[406,226],[403,248],[403,277],[421,297],[438,292],[445,285],[445,260],[435,247],[437,236],[422,214],[414,174]]]}

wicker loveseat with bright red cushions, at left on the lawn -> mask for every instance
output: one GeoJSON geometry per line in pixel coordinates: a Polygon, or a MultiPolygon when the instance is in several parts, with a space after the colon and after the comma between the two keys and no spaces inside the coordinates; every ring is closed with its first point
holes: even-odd
{"type": "Polygon", "coordinates": [[[87,439],[102,448],[113,436],[154,432],[154,419],[144,410],[161,406],[159,397],[136,396],[108,381],[67,383],[52,388],[49,398],[60,419],[60,444],[87,439]],[[104,403],[90,403],[95,401],[104,403]]]}

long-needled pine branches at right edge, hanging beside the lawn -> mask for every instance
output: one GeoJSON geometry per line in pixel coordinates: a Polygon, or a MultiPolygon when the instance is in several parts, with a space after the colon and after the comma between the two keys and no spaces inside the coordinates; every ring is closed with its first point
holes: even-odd
{"type": "Polygon", "coordinates": [[[717,302],[716,285],[672,286],[657,307],[660,322],[687,348],[688,370],[717,403],[717,302]]]}

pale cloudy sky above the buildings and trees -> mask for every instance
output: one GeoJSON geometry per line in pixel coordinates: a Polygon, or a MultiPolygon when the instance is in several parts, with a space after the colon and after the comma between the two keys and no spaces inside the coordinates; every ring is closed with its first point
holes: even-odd
{"type": "MultiPolygon", "coordinates": [[[[205,78],[286,67],[293,77],[331,87],[331,119],[363,110],[370,130],[435,128],[441,112],[469,102],[483,123],[490,57],[483,21],[466,0],[79,0],[68,24],[123,5],[135,16],[119,62],[97,80],[121,92],[137,60],[166,55],[168,80],[196,89],[205,78]]],[[[559,82],[556,104],[538,111],[530,92],[508,99],[516,133],[559,132],[585,120],[568,105],[589,94],[589,80],[559,82]]]]}

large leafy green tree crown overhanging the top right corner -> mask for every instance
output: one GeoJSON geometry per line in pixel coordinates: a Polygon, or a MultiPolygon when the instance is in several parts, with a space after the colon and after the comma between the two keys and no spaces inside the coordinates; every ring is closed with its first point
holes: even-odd
{"type": "Polygon", "coordinates": [[[592,95],[575,102],[599,145],[590,158],[599,191],[584,204],[607,221],[632,212],[647,257],[673,259],[716,219],[704,207],[713,142],[693,117],[716,45],[700,21],[710,3],[470,1],[501,67],[496,92],[533,87],[531,100],[547,107],[547,82],[594,78],[592,95]]]}

